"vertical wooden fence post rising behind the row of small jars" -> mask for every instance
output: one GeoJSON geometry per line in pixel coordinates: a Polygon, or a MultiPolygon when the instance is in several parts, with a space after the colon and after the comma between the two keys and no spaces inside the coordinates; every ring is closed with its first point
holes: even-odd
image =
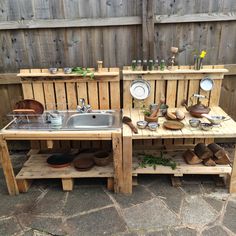
{"type": "Polygon", "coordinates": [[[143,59],[154,58],[154,1],[142,1],[143,59]]]}

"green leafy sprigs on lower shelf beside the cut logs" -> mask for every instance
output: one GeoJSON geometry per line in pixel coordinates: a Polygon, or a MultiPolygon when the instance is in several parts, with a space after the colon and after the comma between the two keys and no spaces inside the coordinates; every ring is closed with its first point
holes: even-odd
{"type": "Polygon", "coordinates": [[[152,166],[155,170],[158,165],[169,166],[172,170],[176,169],[176,162],[163,157],[163,153],[161,152],[160,156],[153,155],[143,155],[142,160],[139,162],[139,167],[146,168],[147,166],[152,166]]]}

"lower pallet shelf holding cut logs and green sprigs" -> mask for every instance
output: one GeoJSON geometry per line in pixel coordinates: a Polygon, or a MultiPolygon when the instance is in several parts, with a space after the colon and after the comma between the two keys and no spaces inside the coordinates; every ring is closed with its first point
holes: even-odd
{"type": "MultiPolygon", "coordinates": [[[[146,154],[160,155],[158,152],[147,151],[146,154]]],[[[138,174],[173,174],[175,176],[182,176],[184,174],[210,174],[210,175],[226,175],[231,174],[232,167],[230,165],[216,165],[216,166],[204,166],[203,164],[189,165],[183,157],[181,151],[173,151],[164,154],[164,157],[172,158],[176,163],[176,169],[172,170],[168,166],[157,166],[140,168],[138,153],[134,153],[133,156],[133,176],[138,174]]]]}

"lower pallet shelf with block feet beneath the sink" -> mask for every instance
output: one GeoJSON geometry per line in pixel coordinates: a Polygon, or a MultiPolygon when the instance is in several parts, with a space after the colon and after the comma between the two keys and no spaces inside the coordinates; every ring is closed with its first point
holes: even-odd
{"type": "Polygon", "coordinates": [[[113,164],[94,166],[89,171],[77,171],[73,164],[64,168],[52,168],[46,160],[50,154],[34,154],[24,163],[16,176],[20,192],[27,192],[34,179],[61,179],[64,191],[73,190],[73,180],[76,178],[107,178],[107,186],[112,189],[114,178],[113,164]]]}

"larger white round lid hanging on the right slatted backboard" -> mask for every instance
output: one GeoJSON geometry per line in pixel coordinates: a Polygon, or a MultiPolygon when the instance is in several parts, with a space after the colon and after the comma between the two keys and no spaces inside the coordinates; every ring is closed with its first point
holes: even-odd
{"type": "Polygon", "coordinates": [[[133,98],[144,100],[150,95],[151,86],[145,80],[134,80],[130,85],[130,93],[133,98]]]}

